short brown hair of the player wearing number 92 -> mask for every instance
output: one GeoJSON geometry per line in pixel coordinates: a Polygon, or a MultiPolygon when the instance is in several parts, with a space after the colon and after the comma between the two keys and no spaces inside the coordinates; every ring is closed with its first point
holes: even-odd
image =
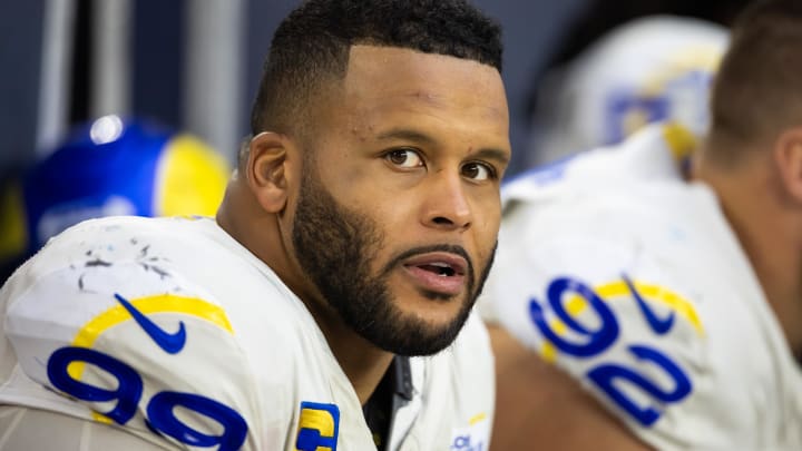
{"type": "Polygon", "coordinates": [[[712,99],[711,160],[741,160],[751,145],[802,126],[802,1],[747,7],[732,29],[712,99]]]}

